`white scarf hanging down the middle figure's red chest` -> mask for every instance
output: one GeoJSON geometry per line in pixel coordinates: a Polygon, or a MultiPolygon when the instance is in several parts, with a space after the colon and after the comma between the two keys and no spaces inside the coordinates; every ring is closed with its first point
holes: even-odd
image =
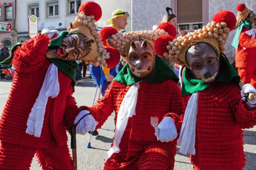
{"type": "Polygon", "coordinates": [[[124,130],[126,129],[129,117],[136,115],[136,104],[138,99],[138,90],[140,88],[139,83],[134,83],[124,96],[124,100],[120,106],[117,114],[116,120],[116,130],[114,135],[113,147],[106,153],[105,161],[110,158],[113,153],[119,153],[119,144],[121,142],[122,136],[124,135],[124,130]]]}

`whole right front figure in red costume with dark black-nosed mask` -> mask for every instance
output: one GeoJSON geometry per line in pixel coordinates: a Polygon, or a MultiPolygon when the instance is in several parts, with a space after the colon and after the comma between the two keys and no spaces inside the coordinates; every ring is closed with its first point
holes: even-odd
{"type": "Polygon", "coordinates": [[[256,98],[244,97],[256,90],[246,84],[241,91],[240,77],[223,54],[235,24],[234,14],[222,10],[202,29],[166,44],[168,57],[186,65],[177,144],[180,153],[191,154],[194,170],[242,170],[245,166],[242,129],[256,125],[256,98]]]}

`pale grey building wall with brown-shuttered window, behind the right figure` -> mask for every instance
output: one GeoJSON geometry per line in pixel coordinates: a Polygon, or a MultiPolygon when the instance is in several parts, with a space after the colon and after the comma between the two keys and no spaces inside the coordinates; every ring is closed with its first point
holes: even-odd
{"type": "MultiPolygon", "coordinates": [[[[166,7],[170,7],[177,16],[177,29],[184,27],[186,31],[194,31],[212,21],[214,14],[220,9],[230,10],[237,14],[239,3],[256,11],[256,0],[132,0],[132,30],[152,29],[161,22],[166,14],[166,7]]],[[[226,44],[226,55],[235,56],[231,46],[236,30],[230,33],[226,44]]],[[[231,62],[234,58],[230,58],[231,62]]]]}

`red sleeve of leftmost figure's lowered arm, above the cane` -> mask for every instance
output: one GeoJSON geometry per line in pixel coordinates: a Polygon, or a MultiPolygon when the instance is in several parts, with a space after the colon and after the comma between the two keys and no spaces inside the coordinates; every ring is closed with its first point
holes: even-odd
{"type": "Polygon", "coordinates": [[[66,107],[64,113],[64,125],[66,130],[70,133],[70,127],[74,125],[74,120],[79,113],[78,106],[76,105],[76,100],[72,96],[73,88],[71,87],[66,97],[66,107]]]}

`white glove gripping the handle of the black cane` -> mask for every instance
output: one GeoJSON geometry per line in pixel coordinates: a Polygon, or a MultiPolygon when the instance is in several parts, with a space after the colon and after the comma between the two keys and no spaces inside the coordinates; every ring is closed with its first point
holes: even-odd
{"type": "MultiPolygon", "coordinates": [[[[80,113],[76,116],[74,124],[76,124],[81,117],[90,113],[88,110],[80,111],[80,113]]],[[[84,117],[76,126],[76,133],[80,135],[85,135],[89,131],[95,131],[95,127],[98,125],[98,122],[92,117],[92,115],[87,115],[84,117]]]]}

